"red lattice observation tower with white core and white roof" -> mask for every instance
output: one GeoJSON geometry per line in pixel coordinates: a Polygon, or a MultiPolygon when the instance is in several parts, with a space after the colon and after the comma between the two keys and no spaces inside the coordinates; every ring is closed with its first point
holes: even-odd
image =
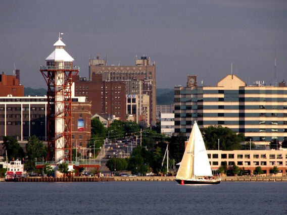
{"type": "Polygon", "coordinates": [[[40,66],[47,83],[47,160],[56,165],[72,160],[72,78],[80,69],[73,66],[61,34],[55,50],[45,59],[46,66],[40,66]]]}

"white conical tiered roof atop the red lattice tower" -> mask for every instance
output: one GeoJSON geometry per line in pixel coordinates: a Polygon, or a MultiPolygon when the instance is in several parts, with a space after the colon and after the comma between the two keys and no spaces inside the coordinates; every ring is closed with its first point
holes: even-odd
{"type": "Polygon", "coordinates": [[[63,61],[63,62],[73,62],[74,59],[69,55],[69,53],[64,49],[65,43],[58,39],[54,43],[55,50],[45,59],[45,61],[63,61]]]}

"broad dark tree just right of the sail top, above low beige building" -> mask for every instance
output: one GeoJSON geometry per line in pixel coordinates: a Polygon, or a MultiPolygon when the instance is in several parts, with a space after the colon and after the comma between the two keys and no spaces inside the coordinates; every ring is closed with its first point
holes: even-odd
{"type": "Polygon", "coordinates": [[[222,126],[209,126],[203,129],[203,138],[208,150],[239,150],[242,149],[241,142],[244,142],[242,133],[236,134],[230,128],[222,126]]]}

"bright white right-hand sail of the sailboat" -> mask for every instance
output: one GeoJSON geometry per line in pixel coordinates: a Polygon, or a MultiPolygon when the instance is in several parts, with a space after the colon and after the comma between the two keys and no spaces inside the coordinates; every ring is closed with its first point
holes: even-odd
{"type": "Polygon", "coordinates": [[[206,148],[197,123],[194,124],[193,130],[195,130],[194,174],[195,176],[212,176],[206,148]]]}

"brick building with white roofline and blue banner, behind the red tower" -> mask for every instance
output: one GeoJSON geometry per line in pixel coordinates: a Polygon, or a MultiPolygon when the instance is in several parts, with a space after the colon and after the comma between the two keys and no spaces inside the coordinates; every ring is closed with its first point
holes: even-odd
{"type": "MultiPolygon", "coordinates": [[[[84,97],[72,98],[72,144],[85,144],[90,139],[91,103],[84,97]]],[[[26,143],[35,135],[47,140],[47,97],[0,97],[0,141],[12,136],[26,143]]],[[[2,148],[2,147],[1,147],[2,148]]]]}

